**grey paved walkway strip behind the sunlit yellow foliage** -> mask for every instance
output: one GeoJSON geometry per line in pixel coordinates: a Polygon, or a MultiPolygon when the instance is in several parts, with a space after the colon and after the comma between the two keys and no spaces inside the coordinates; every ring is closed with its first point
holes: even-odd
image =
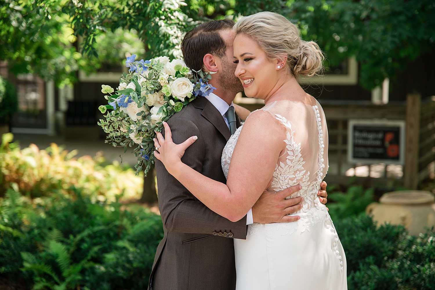
{"type": "Polygon", "coordinates": [[[40,149],[45,149],[50,146],[51,143],[56,143],[57,145],[63,146],[66,150],[72,151],[77,149],[78,153],[76,157],[83,155],[95,156],[98,151],[103,152],[104,157],[107,162],[112,162],[117,160],[121,162],[118,155],[124,155],[122,163],[127,163],[131,167],[134,167],[137,159],[134,154],[131,153],[133,150],[127,150],[124,154],[124,148],[114,148],[112,145],[104,143],[104,140],[77,140],[77,139],[65,139],[60,136],[47,136],[38,134],[14,134],[14,141],[20,143],[21,148],[28,147],[31,143],[38,146],[40,149]]]}

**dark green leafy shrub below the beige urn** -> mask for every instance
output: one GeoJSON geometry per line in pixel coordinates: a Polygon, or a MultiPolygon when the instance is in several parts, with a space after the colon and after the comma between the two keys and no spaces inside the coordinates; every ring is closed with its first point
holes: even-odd
{"type": "Polygon", "coordinates": [[[349,290],[435,289],[435,232],[407,236],[361,214],[335,222],[346,253],[349,290]]]}

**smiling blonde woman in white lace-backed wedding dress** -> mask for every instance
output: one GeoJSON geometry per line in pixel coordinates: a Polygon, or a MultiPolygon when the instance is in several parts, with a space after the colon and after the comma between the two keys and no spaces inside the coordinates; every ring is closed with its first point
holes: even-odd
{"type": "MultiPolygon", "coordinates": [[[[214,212],[238,221],[268,191],[292,185],[302,189],[303,207],[292,223],[249,226],[246,240],[234,239],[238,290],[347,289],[346,258],[326,207],[318,199],[328,171],[328,130],[315,98],[298,84],[324,59],[318,45],[301,40],[285,17],[260,12],[234,26],[235,75],[248,97],[264,99],[229,139],[222,153],[227,184],[214,181],[181,162],[197,136],[176,145],[164,123],[155,152],[167,171],[214,212]]],[[[198,140],[197,140],[198,139],[198,140]]]]}

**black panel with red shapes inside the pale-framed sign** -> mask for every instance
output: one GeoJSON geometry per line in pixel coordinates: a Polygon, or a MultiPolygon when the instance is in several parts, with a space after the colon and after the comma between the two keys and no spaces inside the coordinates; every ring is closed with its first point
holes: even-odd
{"type": "Polygon", "coordinates": [[[354,125],[352,157],[398,161],[400,126],[354,125]]]}

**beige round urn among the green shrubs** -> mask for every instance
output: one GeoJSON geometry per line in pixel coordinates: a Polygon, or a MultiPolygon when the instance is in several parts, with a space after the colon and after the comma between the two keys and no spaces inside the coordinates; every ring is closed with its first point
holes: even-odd
{"type": "Polygon", "coordinates": [[[425,233],[426,227],[435,226],[435,196],[428,191],[400,190],[385,193],[379,202],[365,209],[367,215],[378,222],[402,225],[410,235],[425,233]]]}

